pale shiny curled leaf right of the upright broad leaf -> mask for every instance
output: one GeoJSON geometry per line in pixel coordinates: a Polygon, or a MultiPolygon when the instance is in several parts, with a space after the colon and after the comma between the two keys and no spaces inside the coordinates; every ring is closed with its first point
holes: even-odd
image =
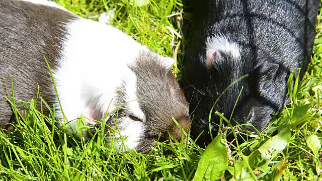
{"type": "Polygon", "coordinates": [[[271,157],[271,152],[282,151],[291,139],[291,131],[288,126],[284,127],[279,133],[267,140],[258,150],[262,153],[264,159],[271,157]]]}

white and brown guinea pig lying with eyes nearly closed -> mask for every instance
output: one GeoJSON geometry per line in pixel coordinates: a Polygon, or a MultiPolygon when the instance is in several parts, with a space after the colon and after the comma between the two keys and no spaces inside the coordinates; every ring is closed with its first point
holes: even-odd
{"type": "MultiPolygon", "coordinates": [[[[190,126],[188,103],[171,72],[173,63],[118,29],[78,17],[53,2],[0,0],[0,127],[10,129],[15,121],[6,100],[6,85],[12,98],[12,76],[16,100],[35,98],[39,85],[40,95],[55,106],[61,122],[65,115],[70,132],[84,115],[87,125],[98,126],[95,120],[105,119],[110,135],[108,127],[115,128],[117,117],[124,144],[146,153],[160,133],[164,139],[168,131],[182,138],[172,117],[186,132],[190,126]],[[116,109],[118,116],[105,118],[116,109]]],[[[106,137],[107,145],[120,149],[120,135],[114,136],[113,143],[106,137]]]]}

